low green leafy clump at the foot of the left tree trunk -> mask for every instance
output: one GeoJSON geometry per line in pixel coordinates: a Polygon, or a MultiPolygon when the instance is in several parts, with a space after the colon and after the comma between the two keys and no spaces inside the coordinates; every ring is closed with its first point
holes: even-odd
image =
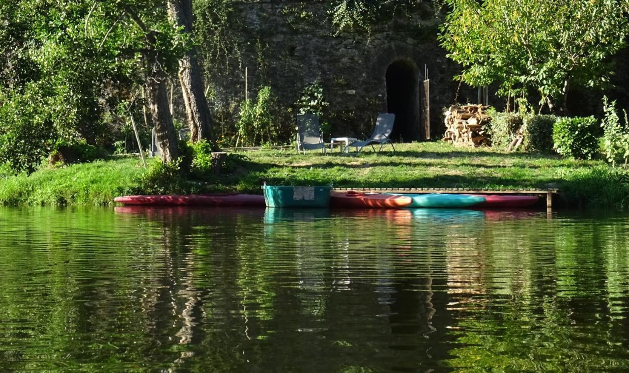
{"type": "Polygon", "coordinates": [[[181,159],[174,162],[152,162],[147,172],[138,177],[138,187],[142,194],[185,194],[187,182],[181,176],[181,159]]]}

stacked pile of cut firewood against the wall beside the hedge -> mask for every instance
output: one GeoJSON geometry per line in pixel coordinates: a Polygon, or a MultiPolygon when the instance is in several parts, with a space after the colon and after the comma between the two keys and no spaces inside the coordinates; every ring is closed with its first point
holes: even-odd
{"type": "Polygon", "coordinates": [[[460,146],[489,145],[489,135],[484,128],[491,122],[491,116],[487,114],[487,109],[489,106],[450,106],[445,112],[443,140],[460,146]]]}

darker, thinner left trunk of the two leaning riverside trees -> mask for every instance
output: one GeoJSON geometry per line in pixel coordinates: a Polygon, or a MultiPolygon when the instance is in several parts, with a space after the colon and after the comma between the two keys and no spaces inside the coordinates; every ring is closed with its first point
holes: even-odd
{"type": "Polygon", "coordinates": [[[162,153],[162,161],[172,162],[179,157],[175,126],[170,116],[166,80],[154,77],[147,79],[148,106],[151,112],[155,135],[162,153]]]}

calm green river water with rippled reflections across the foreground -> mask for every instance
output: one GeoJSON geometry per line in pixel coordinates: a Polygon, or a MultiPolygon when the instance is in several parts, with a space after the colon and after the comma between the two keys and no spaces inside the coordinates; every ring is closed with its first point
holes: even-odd
{"type": "Polygon", "coordinates": [[[629,369],[629,217],[0,208],[0,370],[629,369]]]}

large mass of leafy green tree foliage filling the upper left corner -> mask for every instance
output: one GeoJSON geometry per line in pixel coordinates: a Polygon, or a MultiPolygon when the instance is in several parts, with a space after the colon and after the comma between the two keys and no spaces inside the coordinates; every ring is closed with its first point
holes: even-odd
{"type": "Polygon", "coordinates": [[[176,72],[189,47],[158,0],[4,2],[0,22],[0,159],[16,170],[57,142],[109,146],[130,114],[121,103],[155,70],[176,72]]]}

